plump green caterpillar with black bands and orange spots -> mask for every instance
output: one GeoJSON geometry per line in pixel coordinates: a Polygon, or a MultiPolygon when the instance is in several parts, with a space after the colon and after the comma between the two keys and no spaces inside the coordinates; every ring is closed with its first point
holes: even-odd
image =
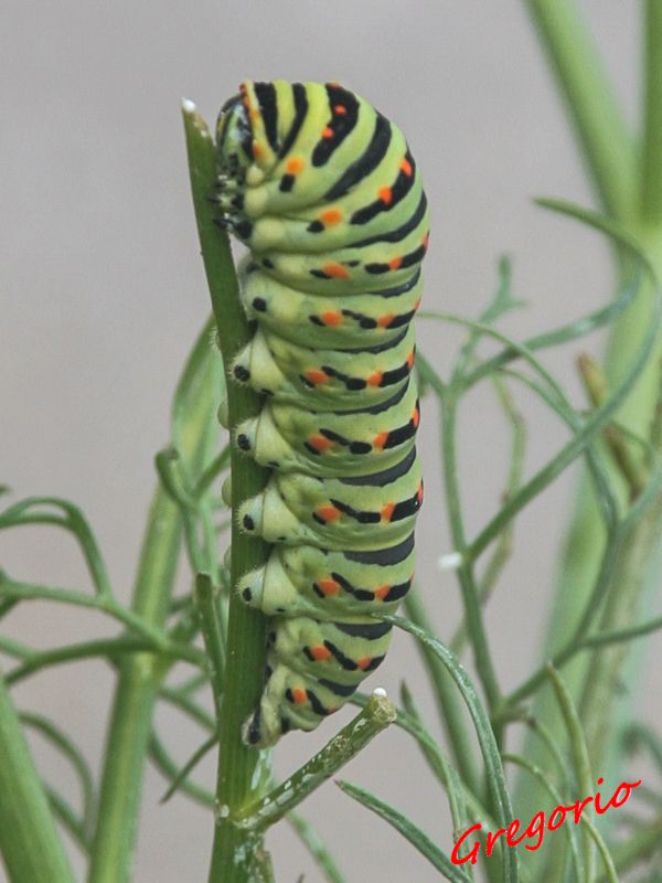
{"type": "Polygon", "coordinates": [[[269,467],[237,513],[271,543],[242,599],[270,617],[243,738],[273,745],[343,705],[384,659],[423,501],[412,319],[428,208],[401,129],[338,83],[247,81],[216,126],[218,223],[255,333],[239,383],[264,395],[234,444],[269,467]]]}

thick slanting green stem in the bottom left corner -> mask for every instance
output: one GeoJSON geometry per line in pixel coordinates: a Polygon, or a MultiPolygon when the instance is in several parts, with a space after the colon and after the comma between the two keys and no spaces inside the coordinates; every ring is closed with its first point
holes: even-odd
{"type": "Polygon", "coordinates": [[[49,799],[1,674],[0,853],[11,883],[74,883],[49,799]]]}

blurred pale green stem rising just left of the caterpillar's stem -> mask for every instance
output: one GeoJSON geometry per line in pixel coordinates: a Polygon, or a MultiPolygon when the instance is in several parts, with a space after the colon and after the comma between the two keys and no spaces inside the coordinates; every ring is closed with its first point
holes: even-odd
{"type": "MultiPolygon", "coordinates": [[[[182,427],[181,453],[194,468],[203,465],[210,422],[215,419],[217,376],[212,358],[206,358],[200,390],[182,427]]],[[[181,540],[179,509],[159,487],[149,511],[131,605],[136,616],[158,630],[163,628],[170,608],[181,540]]],[[[125,883],[130,879],[153,709],[168,664],[153,653],[135,653],[120,662],[89,883],[125,883]]]]}

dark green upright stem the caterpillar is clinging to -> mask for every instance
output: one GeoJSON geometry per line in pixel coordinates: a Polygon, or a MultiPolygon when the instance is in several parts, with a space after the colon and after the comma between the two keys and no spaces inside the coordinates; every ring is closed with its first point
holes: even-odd
{"type": "MultiPolygon", "coordinates": [[[[227,375],[229,425],[255,416],[261,400],[250,389],[238,386],[232,379],[232,363],[237,352],[250,340],[250,330],[239,301],[238,287],[227,236],[214,224],[214,209],[209,196],[217,178],[216,155],[209,129],[200,115],[183,108],[189,168],[195,220],[202,246],[212,309],[216,320],[218,344],[227,375]]],[[[268,471],[241,454],[233,444],[231,453],[232,509],[263,490],[268,471]]],[[[268,546],[232,525],[231,582],[253,567],[264,564],[268,546]]],[[[261,691],[265,667],[266,618],[231,594],[227,628],[226,671],[223,684],[223,715],[220,731],[218,779],[216,785],[216,819],[210,883],[249,883],[257,876],[254,862],[263,854],[261,838],[237,828],[231,819],[255,802],[264,787],[256,768],[265,772],[264,752],[242,742],[241,727],[255,709],[261,691]]],[[[216,688],[216,692],[218,688],[216,688]]],[[[265,873],[264,860],[259,872],[265,873]]]]}

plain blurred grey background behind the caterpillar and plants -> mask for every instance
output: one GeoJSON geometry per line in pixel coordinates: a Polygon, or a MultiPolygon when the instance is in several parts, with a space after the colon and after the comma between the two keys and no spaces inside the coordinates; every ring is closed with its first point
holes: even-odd
{"type": "MultiPolygon", "coordinates": [[[[639,3],[583,3],[630,119],[638,108],[639,3]]],[[[610,297],[607,249],[569,221],[532,205],[548,194],[591,204],[562,107],[521,0],[362,0],[333,3],[156,0],[4,0],[0,29],[0,480],[14,498],[60,494],[76,501],[99,536],[118,595],[128,598],[152,457],[168,438],[171,393],[207,313],[190,204],[180,97],[212,123],[244,78],[337,78],[402,125],[433,206],[425,305],[474,316],[494,289],[496,259],[514,258],[514,291],[528,307],[503,327],[523,336],[568,320],[610,297]]],[[[446,371],[457,331],[419,325],[420,347],[446,371]]],[[[574,374],[580,348],[547,364],[583,402],[574,374]]],[[[524,395],[527,472],[566,438],[524,395]]],[[[426,506],[418,531],[419,578],[447,638],[458,589],[441,573],[450,551],[434,403],[424,403],[426,506]]],[[[508,428],[485,387],[462,412],[461,481],[472,534],[499,506],[508,428]]],[[[515,555],[487,614],[505,689],[521,681],[541,647],[553,563],[572,498],[570,474],[519,523],[515,555]]],[[[85,587],[66,536],[47,530],[0,535],[12,574],[85,587]]],[[[100,617],[25,605],[11,634],[45,647],[111,635],[100,617]]],[[[397,693],[402,678],[431,710],[409,641],[398,636],[372,679],[397,693]]],[[[660,650],[658,641],[652,650],[660,650]]],[[[651,667],[652,669],[652,667],[651,667]]],[[[660,691],[647,675],[642,717],[660,722],[660,691]]],[[[102,662],[41,673],[15,691],[22,709],[66,724],[99,764],[113,677],[102,662]]],[[[351,712],[343,712],[346,720],[351,712]]],[[[286,775],[329,737],[292,735],[278,748],[286,775]]],[[[202,737],[167,710],[159,728],[183,762],[202,737]]],[[[50,779],[76,799],[57,757],[34,741],[50,779]]],[[[215,758],[199,769],[211,786],[215,758]]],[[[397,804],[446,848],[444,796],[428,781],[401,732],[373,743],[343,777],[397,804]]],[[[138,883],[206,879],[209,813],[147,775],[136,862],[138,883]]],[[[414,850],[332,784],[308,805],[351,883],[438,877],[414,850]]],[[[270,836],[277,879],[319,879],[286,828],[270,836]]],[[[82,875],[82,862],[72,848],[82,875]]],[[[1,875],[0,871],[0,875],[1,875]]]]}

